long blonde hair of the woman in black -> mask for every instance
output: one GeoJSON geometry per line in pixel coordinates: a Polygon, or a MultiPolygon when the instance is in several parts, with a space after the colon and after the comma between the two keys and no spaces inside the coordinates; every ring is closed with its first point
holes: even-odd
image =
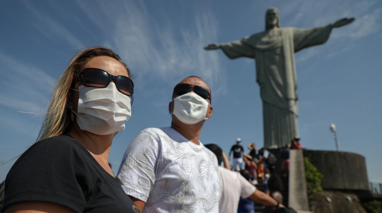
{"type": "Polygon", "coordinates": [[[116,59],[126,68],[129,77],[131,77],[125,62],[121,60],[118,54],[108,48],[95,46],[79,52],[71,59],[65,72],[60,77],[60,80],[58,80],[36,141],[62,135],[70,130],[72,121],[70,119],[71,111],[68,108],[68,101],[70,99],[71,85],[77,80],[78,74],[86,62],[96,56],[109,56],[116,59]]]}

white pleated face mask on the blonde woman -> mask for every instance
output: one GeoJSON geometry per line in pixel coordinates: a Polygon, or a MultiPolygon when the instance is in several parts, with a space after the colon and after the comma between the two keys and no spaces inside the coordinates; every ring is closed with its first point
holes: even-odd
{"type": "Polygon", "coordinates": [[[118,91],[114,82],[106,88],[81,85],[78,89],[76,121],[81,130],[109,135],[125,129],[125,120],[131,117],[131,99],[118,91]]]}

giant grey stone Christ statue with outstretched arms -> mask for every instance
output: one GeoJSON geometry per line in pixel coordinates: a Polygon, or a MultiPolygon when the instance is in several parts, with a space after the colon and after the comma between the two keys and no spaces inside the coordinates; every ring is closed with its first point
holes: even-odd
{"type": "Polygon", "coordinates": [[[264,147],[282,147],[298,137],[297,74],[294,53],[327,41],[334,27],[354,18],[312,29],[280,27],[277,8],[265,14],[265,31],[228,43],[211,43],[206,50],[222,49],[231,59],[256,59],[256,81],[263,102],[264,147]]]}

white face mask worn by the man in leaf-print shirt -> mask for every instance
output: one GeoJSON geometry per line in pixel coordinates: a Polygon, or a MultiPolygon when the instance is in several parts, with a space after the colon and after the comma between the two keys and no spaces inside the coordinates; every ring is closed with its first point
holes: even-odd
{"type": "Polygon", "coordinates": [[[182,94],[173,99],[174,109],[173,115],[182,123],[195,124],[206,117],[209,103],[193,91],[182,94]]]}

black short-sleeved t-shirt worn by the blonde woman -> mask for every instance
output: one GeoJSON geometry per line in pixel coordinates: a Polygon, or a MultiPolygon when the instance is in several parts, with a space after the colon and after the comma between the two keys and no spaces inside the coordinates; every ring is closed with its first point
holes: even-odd
{"type": "Polygon", "coordinates": [[[75,212],[141,212],[120,180],[68,135],[33,144],[9,171],[1,212],[25,201],[55,203],[75,212]]]}

